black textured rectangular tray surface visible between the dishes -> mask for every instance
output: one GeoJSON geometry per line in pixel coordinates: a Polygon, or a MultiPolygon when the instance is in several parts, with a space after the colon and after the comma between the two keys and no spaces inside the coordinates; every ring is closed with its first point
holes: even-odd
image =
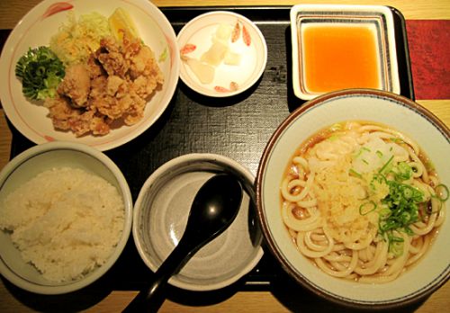
{"type": "MultiPolygon", "coordinates": [[[[267,7],[188,7],[163,8],[172,22],[175,32],[201,13],[227,10],[247,16],[257,23],[266,37],[268,58],[262,78],[250,90],[235,97],[214,99],[191,91],[181,80],[174,98],[163,116],[139,138],[120,148],[107,151],[106,155],[121,168],[136,200],[139,189],[148,175],[175,156],[188,153],[215,153],[229,156],[257,173],[257,165],[266,142],[276,127],[302,101],[293,94],[291,82],[291,31],[290,6],[267,7]]],[[[414,100],[410,71],[410,56],[403,16],[392,8],[395,20],[401,94],[414,100]]],[[[25,139],[14,127],[11,157],[34,144],[25,139]]],[[[94,288],[107,290],[139,290],[152,273],[141,261],[132,237],[112,269],[94,284],[94,288]]],[[[307,302],[317,302],[316,297],[306,297],[307,291],[296,286],[275,258],[266,251],[257,267],[239,282],[221,291],[181,291],[171,287],[172,300],[185,304],[217,303],[236,291],[270,290],[286,301],[300,292],[307,302]],[[288,291],[289,290],[289,291],[288,291]],[[284,296],[284,291],[286,296],[284,296]],[[290,296],[288,296],[290,295],[290,296]],[[290,297],[290,298],[289,298],[290,297]]],[[[286,303],[284,301],[284,303],[286,303]]]]}

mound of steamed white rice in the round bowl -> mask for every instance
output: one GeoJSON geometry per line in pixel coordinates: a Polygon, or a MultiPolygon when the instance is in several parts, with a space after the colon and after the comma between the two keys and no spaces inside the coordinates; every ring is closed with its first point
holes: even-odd
{"type": "Polygon", "coordinates": [[[124,225],[117,189],[81,169],[40,173],[0,204],[0,228],[52,282],[76,280],[104,264],[124,225]]]}

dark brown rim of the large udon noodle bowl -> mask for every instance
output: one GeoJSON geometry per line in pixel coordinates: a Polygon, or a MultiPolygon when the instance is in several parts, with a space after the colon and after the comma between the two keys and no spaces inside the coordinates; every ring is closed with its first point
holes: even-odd
{"type": "MultiPolygon", "coordinates": [[[[442,285],[444,285],[449,279],[450,275],[447,275],[447,277],[444,277],[438,282],[434,282],[435,284],[429,287],[427,290],[420,292],[419,294],[415,295],[414,297],[411,297],[410,299],[406,300],[397,300],[392,302],[380,302],[380,303],[370,303],[368,305],[367,303],[360,303],[357,301],[349,301],[345,300],[344,298],[334,297],[333,295],[330,295],[328,293],[325,293],[324,291],[320,291],[320,289],[315,288],[302,276],[297,275],[295,271],[290,267],[288,262],[283,257],[283,253],[278,251],[278,247],[275,243],[275,239],[270,235],[270,229],[267,225],[265,212],[264,212],[264,205],[263,205],[263,199],[262,199],[262,185],[263,185],[263,177],[266,171],[266,165],[268,163],[268,159],[271,155],[271,152],[277,142],[277,140],[280,138],[284,130],[299,116],[301,116],[304,112],[308,112],[311,108],[313,108],[315,105],[319,103],[323,103],[329,99],[340,97],[343,95],[354,95],[354,94],[362,94],[362,95],[373,95],[378,96],[381,98],[389,98],[396,102],[404,103],[407,107],[412,108],[414,111],[418,112],[422,116],[428,117],[428,119],[432,120],[434,123],[436,123],[437,127],[444,131],[444,136],[446,138],[450,138],[450,130],[446,126],[446,124],[437,118],[437,116],[433,113],[428,111],[425,107],[420,105],[419,103],[415,103],[414,101],[410,100],[407,97],[404,97],[400,94],[393,94],[390,92],[382,91],[382,90],[375,90],[375,89],[365,89],[365,88],[354,88],[354,89],[346,89],[346,90],[339,90],[336,92],[331,92],[328,94],[322,94],[306,103],[304,103],[302,106],[295,109],[293,112],[291,112],[284,121],[282,121],[268,140],[266,147],[263,150],[263,154],[261,156],[261,160],[258,165],[257,169],[257,179],[256,179],[256,196],[257,196],[257,217],[259,220],[259,223],[261,225],[263,235],[266,240],[266,246],[268,247],[268,250],[272,255],[275,256],[276,261],[278,264],[281,264],[282,268],[284,269],[284,272],[288,273],[290,277],[294,279],[295,282],[300,283],[303,287],[307,288],[309,291],[314,293],[315,295],[319,296],[322,299],[329,300],[331,302],[337,303],[338,305],[345,306],[347,308],[352,309],[399,309],[403,308],[407,305],[413,304],[418,302],[419,300],[423,300],[424,298],[428,297],[430,294],[432,294],[434,291],[437,291],[442,285]]],[[[450,265],[449,265],[450,266],[450,265]]],[[[318,269],[319,271],[319,269],[318,269]]]]}

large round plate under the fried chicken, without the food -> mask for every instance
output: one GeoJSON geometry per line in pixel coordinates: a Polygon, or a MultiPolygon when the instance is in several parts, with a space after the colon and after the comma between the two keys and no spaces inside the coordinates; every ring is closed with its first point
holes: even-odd
{"type": "Polygon", "coordinates": [[[176,45],[175,31],[166,16],[154,4],[145,1],[125,0],[75,0],[68,3],[59,3],[66,7],[73,6],[78,17],[83,13],[102,13],[109,16],[121,7],[130,13],[136,23],[139,35],[145,44],[155,52],[155,57],[161,58],[158,62],[165,76],[162,90],[158,91],[147,103],[144,118],[132,126],[123,125],[112,130],[105,136],[84,136],[76,138],[72,132],[55,130],[48,115],[48,109],[36,103],[29,102],[22,94],[22,83],[15,77],[14,68],[17,60],[21,58],[30,47],[49,45],[50,37],[58,31],[58,27],[67,22],[67,10],[43,17],[50,5],[55,1],[45,0],[36,5],[11,32],[4,44],[0,58],[0,97],[4,112],[14,127],[26,138],[36,144],[65,140],[83,143],[99,150],[116,148],[138,137],[147,130],[159,116],[166,110],[168,103],[175,93],[179,76],[179,51],[176,45]],[[47,31],[42,31],[47,30],[47,31]]]}

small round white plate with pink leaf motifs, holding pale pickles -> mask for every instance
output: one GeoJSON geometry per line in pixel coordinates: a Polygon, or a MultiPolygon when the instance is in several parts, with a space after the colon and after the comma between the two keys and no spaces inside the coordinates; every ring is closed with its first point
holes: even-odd
{"type": "Polygon", "coordinates": [[[184,25],[177,40],[183,59],[180,78],[199,94],[211,97],[240,94],[255,85],[266,68],[267,46],[264,35],[254,22],[238,13],[212,11],[198,15],[184,25]],[[226,52],[212,56],[218,62],[211,64],[211,58],[204,58],[204,55],[213,49],[218,40],[223,40],[226,52]],[[218,56],[220,54],[223,58],[218,56]],[[211,79],[199,77],[188,59],[212,67],[211,79]]]}

